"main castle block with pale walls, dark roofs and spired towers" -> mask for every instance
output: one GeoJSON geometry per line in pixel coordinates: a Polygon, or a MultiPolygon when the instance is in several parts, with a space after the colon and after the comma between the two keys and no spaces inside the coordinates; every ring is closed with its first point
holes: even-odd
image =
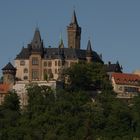
{"type": "Polygon", "coordinates": [[[47,75],[50,79],[59,79],[63,68],[80,61],[103,63],[101,57],[92,50],[88,41],[87,49],[80,47],[81,27],[78,25],[75,11],[67,26],[68,47],[60,40],[57,48],[45,48],[40,31],[36,28],[33,39],[15,58],[16,78],[18,80],[40,81],[47,75]]]}

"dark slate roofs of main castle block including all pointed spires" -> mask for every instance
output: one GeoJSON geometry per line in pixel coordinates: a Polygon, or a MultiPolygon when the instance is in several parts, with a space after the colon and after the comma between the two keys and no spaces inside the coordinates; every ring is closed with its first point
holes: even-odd
{"type": "MultiPolygon", "coordinates": [[[[71,24],[78,25],[76,13],[73,12],[71,24]]],[[[90,56],[94,62],[103,63],[99,55],[92,51],[90,40],[88,41],[87,50],[76,49],[76,48],[64,48],[63,40],[61,39],[60,44],[57,48],[44,48],[43,41],[41,40],[40,31],[36,28],[33,40],[28,44],[27,48],[22,48],[21,52],[16,56],[15,59],[29,59],[32,53],[38,53],[44,59],[80,59],[86,60],[87,52],[90,52],[90,56]]]]}

